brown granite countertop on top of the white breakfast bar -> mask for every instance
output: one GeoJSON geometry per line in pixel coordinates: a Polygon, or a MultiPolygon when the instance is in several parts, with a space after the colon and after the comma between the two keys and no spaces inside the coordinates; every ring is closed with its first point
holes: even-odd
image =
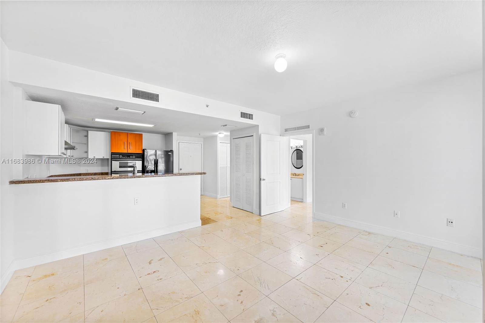
{"type": "MultiPolygon", "coordinates": [[[[199,173],[166,173],[166,174],[140,174],[140,175],[85,175],[85,174],[97,174],[97,173],[81,173],[81,176],[74,174],[75,176],[51,176],[44,178],[24,178],[14,179],[9,181],[9,184],[33,184],[33,183],[57,183],[57,182],[77,182],[83,180],[104,180],[104,179],[124,179],[124,178],[149,178],[149,177],[168,177],[168,176],[187,176],[187,175],[205,175],[205,172],[199,173]]],[[[73,174],[66,174],[73,175],[73,174]]]]}

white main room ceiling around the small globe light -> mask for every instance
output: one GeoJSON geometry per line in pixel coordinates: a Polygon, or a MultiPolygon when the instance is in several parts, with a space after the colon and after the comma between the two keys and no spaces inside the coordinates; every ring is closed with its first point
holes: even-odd
{"type": "Polygon", "coordinates": [[[482,61],[481,1],[0,2],[10,49],[275,114],[482,61]]]}

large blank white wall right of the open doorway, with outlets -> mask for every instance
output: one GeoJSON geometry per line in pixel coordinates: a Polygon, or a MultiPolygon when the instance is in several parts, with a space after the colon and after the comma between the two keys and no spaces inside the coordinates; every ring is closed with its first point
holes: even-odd
{"type": "Polygon", "coordinates": [[[315,217],[482,256],[481,71],[286,115],[281,133],[304,124],[327,129],[315,217]]]}

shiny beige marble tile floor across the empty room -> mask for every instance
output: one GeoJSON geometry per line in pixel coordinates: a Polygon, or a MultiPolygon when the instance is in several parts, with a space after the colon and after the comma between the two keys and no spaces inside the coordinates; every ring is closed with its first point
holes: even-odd
{"type": "Polygon", "coordinates": [[[16,271],[0,322],[480,322],[480,259],[201,196],[202,226],[16,271]]]}

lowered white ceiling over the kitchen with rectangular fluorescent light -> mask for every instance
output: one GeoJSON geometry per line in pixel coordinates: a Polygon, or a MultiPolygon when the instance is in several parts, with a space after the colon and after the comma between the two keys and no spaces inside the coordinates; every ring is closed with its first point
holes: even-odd
{"type": "Polygon", "coordinates": [[[218,132],[229,134],[230,130],[254,126],[244,122],[230,121],[210,116],[163,109],[138,103],[91,97],[36,86],[23,86],[32,101],[59,104],[69,125],[166,134],[177,132],[179,136],[209,137],[218,132]],[[144,114],[119,112],[116,107],[146,111],[144,114]],[[94,121],[93,118],[128,121],[155,125],[154,127],[130,126],[94,121]],[[221,127],[229,124],[234,127],[221,127]]]}

